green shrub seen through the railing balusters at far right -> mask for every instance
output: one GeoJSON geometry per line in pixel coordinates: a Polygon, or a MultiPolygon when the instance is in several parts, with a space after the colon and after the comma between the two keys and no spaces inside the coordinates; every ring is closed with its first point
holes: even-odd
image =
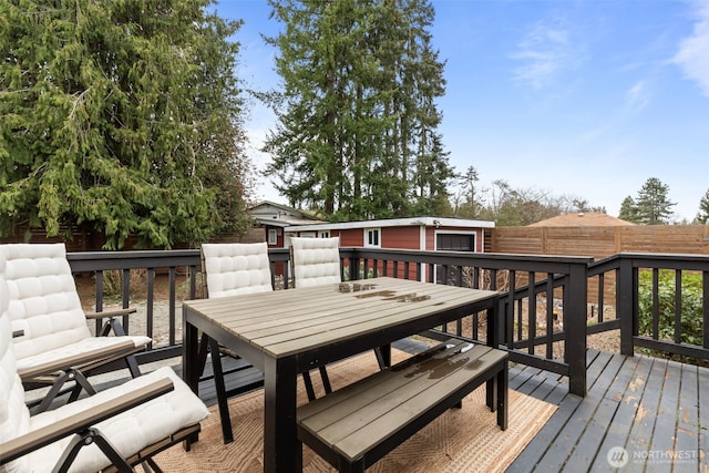
{"type": "MultiPolygon", "coordinates": [[[[675,271],[658,271],[658,337],[675,339],[675,271]]],[[[700,274],[682,274],[681,277],[681,335],[682,343],[702,345],[702,278],[700,274]]],[[[639,274],[638,333],[653,336],[653,271],[639,274]]]]}

